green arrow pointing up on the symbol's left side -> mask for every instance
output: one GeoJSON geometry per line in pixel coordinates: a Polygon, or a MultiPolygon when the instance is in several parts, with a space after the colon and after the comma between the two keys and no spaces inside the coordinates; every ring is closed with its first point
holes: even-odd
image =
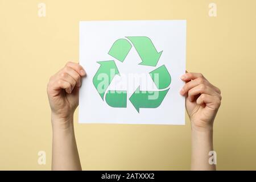
{"type": "Polygon", "coordinates": [[[115,75],[119,75],[117,65],[113,60],[110,61],[98,61],[100,68],[93,77],[93,85],[100,94],[102,100],[104,100],[104,94],[108,88],[110,82],[112,82],[115,75]]]}

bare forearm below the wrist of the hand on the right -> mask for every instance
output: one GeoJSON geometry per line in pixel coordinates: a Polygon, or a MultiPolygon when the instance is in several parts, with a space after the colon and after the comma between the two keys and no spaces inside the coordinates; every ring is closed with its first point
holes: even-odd
{"type": "Polygon", "coordinates": [[[216,170],[209,164],[209,152],[213,151],[213,130],[192,129],[191,170],[216,170]]]}

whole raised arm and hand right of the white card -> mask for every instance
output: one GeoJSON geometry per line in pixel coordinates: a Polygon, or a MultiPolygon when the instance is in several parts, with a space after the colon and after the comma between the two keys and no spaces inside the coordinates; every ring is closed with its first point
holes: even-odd
{"type": "Polygon", "coordinates": [[[213,151],[213,122],[221,104],[221,91],[201,73],[185,73],[180,90],[191,121],[191,170],[216,170],[209,164],[213,151]]]}

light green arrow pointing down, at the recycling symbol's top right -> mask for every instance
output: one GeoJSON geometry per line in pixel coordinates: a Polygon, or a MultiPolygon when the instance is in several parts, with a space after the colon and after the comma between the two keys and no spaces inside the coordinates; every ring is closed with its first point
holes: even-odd
{"type": "Polygon", "coordinates": [[[156,66],[163,51],[156,51],[156,48],[150,38],[146,36],[127,36],[126,38],[133,43],[141,57],[141,65],[148,65],[152,67],[156,66]]]}

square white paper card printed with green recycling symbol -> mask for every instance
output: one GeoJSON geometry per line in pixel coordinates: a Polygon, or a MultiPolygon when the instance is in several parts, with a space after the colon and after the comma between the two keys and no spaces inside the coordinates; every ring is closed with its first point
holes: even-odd
{"type": "Polygon", "coordinates": [[[79,123],[184,125],[185,20],[80,22],[79,123]]]}

